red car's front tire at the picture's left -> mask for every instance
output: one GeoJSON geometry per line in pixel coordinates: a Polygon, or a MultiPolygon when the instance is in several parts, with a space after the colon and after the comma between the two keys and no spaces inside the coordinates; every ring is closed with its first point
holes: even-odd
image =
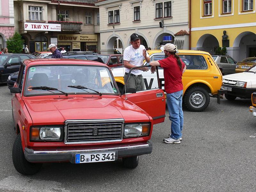
{"type": "Polygon", "coordinates": [[[12,147],[12,162],[16,171],[23,175],[33,175],[42,167],[41,163],[30,163],[26,160],[20,134],[17,135],[12,147]]]}

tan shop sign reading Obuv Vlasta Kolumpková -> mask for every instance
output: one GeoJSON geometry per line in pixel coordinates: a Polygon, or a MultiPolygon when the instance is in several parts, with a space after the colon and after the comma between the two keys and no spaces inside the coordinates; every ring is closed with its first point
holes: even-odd
{"type": "Polygon", "coordinates": [[[97,42],[98,36],[87,34],[60,34],[58,35],[58,41],[97,42]]]}

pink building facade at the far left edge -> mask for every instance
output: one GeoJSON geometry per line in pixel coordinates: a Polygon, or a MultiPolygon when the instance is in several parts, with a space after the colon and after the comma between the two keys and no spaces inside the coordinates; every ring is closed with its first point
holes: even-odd
{"type": "Polygon", "coordinates": [[[14,34],[13,0],[0,0],[0,50],[6,47],[6,40],[14,34]]]}

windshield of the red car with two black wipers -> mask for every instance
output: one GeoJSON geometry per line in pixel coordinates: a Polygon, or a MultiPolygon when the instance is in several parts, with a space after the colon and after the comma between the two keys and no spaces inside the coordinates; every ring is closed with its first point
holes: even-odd
{"type": "Polygon", "coordinates": [[[29,89],[31,87],[51,87],[68,94],[118,94],[114,80],[107,67],[54,65],[28,68],[25,95],[61,94],[59,91],[29,89]],[[89,89],[74,88],[81,85],[89,89]],[[70,87],[73,86],[73,87],[70,87]]]}

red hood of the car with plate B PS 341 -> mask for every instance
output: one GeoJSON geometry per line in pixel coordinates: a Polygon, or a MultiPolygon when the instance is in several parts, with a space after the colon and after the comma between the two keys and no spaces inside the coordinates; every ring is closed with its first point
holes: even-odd
{"type": "Polygon", "coordinates": [[[124,119],[126,122],[149,121],[138,106],[120,96],[24,98],[33,125],[63,124],[66,120],[124,119]],[[68,98],[68,99],[67,99],[68,98]]]}

